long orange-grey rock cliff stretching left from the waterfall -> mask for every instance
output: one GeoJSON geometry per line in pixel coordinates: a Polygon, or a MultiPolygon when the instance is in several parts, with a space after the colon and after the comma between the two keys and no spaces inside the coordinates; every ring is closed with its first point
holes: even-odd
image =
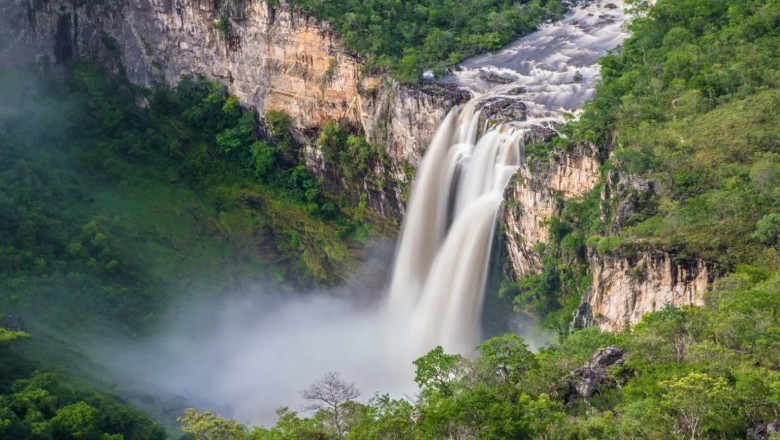
{"type": "MultiPolygon", "coordinates": [[[[404,164],[417,164],[449,108],[468,98],[362,75],[360,59],[326,23],[285,2],[0,0],[0,12],[0,64],[118,57],[128,78],[145,86],[183,75],[217,78],[261,115],[287,112],[304,143],[327,121],[362,129],[395,161],[382,171],[402,181],[404,164]]],[[[315,165],[311,153],[307,163],[315,165]]],[[[400,194],[389,188],[369,196],[377,206],[391,200],[382,211],[400,218],[393,209],[403,206],[400,194]]]]}

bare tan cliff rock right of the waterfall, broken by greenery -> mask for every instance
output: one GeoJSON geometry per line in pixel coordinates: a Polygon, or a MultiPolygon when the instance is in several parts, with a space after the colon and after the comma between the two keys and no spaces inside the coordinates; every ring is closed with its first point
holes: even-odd
{"type": "MultiPolygon", "coordinates": [[[[564,153],[549,162],[521,168],[505,195],[504,231],[517,277],[538,273],[534,250],[548,240],[545,222],[557,215],[562,201],[593,189],[600,181],[599,161],[587,151],[564,153]]],[[[630,210],[626,189],[652,191],[648,182],[608,176],[602,198],[618,199],[616,220],[630,210]],[[625,200],[623,200],[625,199],[625,200]],[[625,205],[625,206],[624,206],[625,205]],[[622,213],[622,214],[621,214],[622,213]]],[[[613,231],[617,232],[617,231],[613,231]]],[[[618,331],[639,322],[664,305],[702,304],[712,281],[712,268],[702,261],[675,262],[666,252],[640,252],[632,257],[590,255],[593,282],[575,313],[575,327],[598,326],[618,331]]]]}

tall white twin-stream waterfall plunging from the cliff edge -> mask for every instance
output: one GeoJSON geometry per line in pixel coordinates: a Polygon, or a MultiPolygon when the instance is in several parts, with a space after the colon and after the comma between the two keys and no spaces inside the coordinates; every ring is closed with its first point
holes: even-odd
{"type": "Polygon", "coordinates": [[[523,156],[522,129],[477,139],[477,102],[451,110],[436,131],[401,233],[388,301],[411,311],[420,351],[468,353],[477,342],[496,214],[523,156]]]}

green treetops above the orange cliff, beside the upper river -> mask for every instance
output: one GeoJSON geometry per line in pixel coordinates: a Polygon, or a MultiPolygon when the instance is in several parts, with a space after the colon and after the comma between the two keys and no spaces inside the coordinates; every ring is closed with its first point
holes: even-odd
{"type": "Polygon", "coordinates": [[[368,69],[390,70],[416,83],[423,69],[441,69],[563,14],[560,0],[292,0],[328,21],[368,69]]]}

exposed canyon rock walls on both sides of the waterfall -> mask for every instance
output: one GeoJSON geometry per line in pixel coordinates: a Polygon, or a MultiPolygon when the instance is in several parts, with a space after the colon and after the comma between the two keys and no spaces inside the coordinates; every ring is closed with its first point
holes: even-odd
{"type": "MultiPolygon", "coordinates": [[[[402,186],[411,179],[408,170],[419,165],[450,109],[471,97],[457,80],[408,86],[363,72],[360,57],[342,47],[328,24],[285,2],[0,0],[0,17],[5,21],[0,59],[6,63],[59,64],[86,56],[124,69],[132,82],[147,87],[202,75],[220,80],[243,106],[261,115],[286,112],[296,138],[306,145],[307,166],[321,178],[329,173],[314,146],[319,128],[328,121],[355,127],[391,159],[389,167],[373,170],[391,183],[368,191],[368,206],[396,224],[405,214],[402,186]],[[227,32],[217,29],[222,20],[227,32]]],[[[484,70],[471,67],[471,72],[484,70]]],[[[494,73],[507,75],[510,67],[494,73]]],[[[473,81],[466,73],[464,81],[473,81]]],[[[585,74],[595,79],[597,72],[585,74]]],[[[540,269],[535,249],[547,241],[547,220],[559,213],[560,200],[609,185],[600,169],[609,153],[609,146],[587,145],[520,167],[499,215],[514,276],[540,269]]],[[[655,252],[632,258],[594,255],[591,273],[575,321],[609,330],[636,323],[666,304],[701,304],[713,278],[705,262],[678,264],[674,255],[655,252]]]]}

